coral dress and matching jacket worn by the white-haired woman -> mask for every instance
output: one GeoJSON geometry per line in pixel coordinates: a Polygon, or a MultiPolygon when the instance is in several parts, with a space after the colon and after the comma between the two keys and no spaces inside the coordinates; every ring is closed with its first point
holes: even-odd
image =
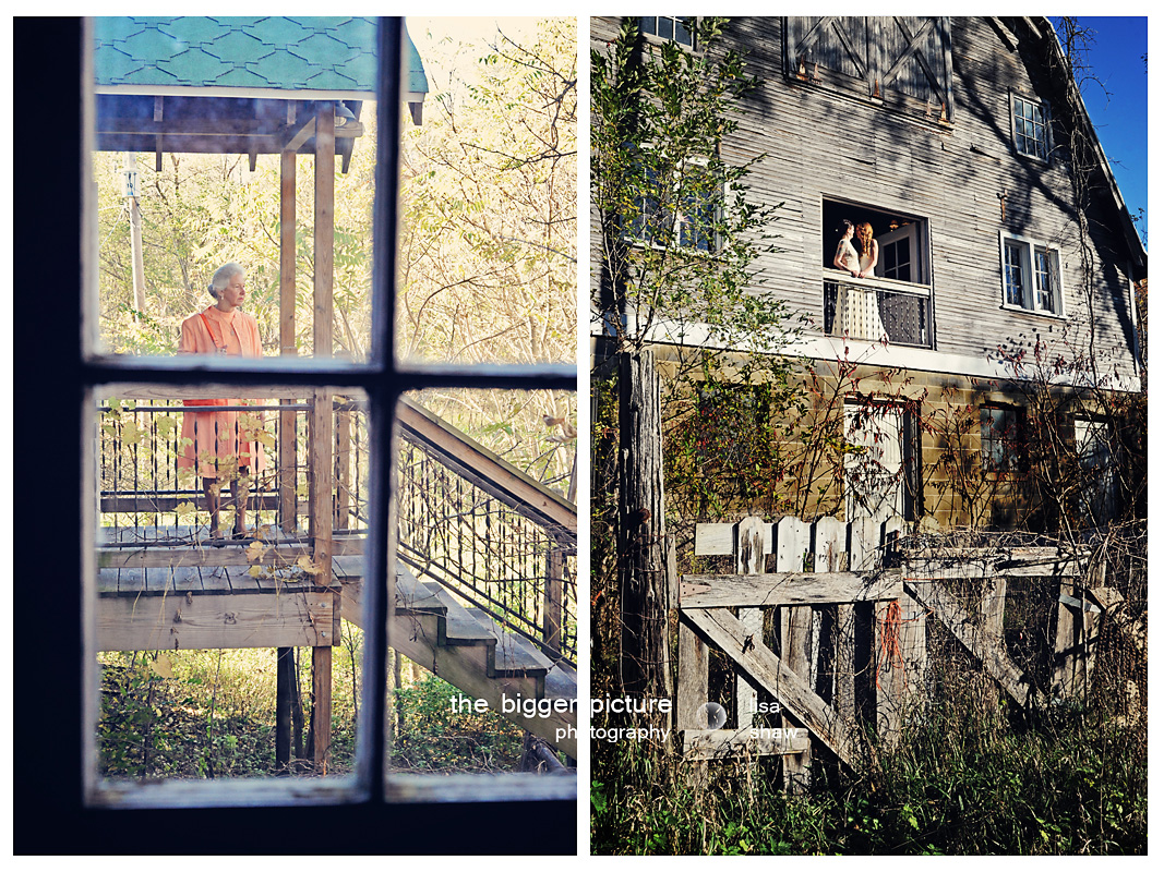
{"type": "MultiPolygon", "coordinates": [[[[178,353],[262,357],[258,323],[241,309],[223,313],[218,307],[210,306],[182,322],[178,353]]],[[[242,401],[213,402],[239,406],[242,401]]],[[[187,400],[186,403],[198,407],[201,401],[187,400]]],[[[213,406],[205,408],[205,412],[190,410],[182,415],[178,467],[189,470],[197,466],[198,474],[203,478],[230,478],[241,466],[249,467],[251,472],[261,472],[265,466],[263,445],[254,439],[253,433],[261,426],[257,413],[248,415],[212,412],[210,409],[213,406]]]]}

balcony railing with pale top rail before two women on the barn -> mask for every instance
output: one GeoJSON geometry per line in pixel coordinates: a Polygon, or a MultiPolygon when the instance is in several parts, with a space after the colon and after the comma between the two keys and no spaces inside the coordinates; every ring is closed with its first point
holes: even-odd
{"type": "Polygon", "coordinates": [[[824,331],[850,339],[934,348],[930,288],[892,279],[826,274],[824,331]]]}

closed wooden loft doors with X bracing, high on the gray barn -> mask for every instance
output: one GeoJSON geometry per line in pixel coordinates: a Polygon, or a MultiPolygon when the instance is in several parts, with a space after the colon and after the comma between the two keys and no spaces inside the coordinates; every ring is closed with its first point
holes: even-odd
{"type": "Polygon", "coordinates": [[[945,16],[789,15],[789,76],[901,108],[924,103],[932,117],[950,99],[950,20],[945,16]]]}

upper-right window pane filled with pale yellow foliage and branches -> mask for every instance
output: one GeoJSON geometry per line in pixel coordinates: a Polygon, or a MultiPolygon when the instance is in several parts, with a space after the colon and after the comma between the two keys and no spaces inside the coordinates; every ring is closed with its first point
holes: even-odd
{"type": "Polygon", "coordinates": [[[576,79],[576,23],[502,20],[510,42],[482,21],[471,51],[433,27],[419,43],[445,72],[403,145],[398,353],[573,363],[577,94],[563,83],[576,79]]]}

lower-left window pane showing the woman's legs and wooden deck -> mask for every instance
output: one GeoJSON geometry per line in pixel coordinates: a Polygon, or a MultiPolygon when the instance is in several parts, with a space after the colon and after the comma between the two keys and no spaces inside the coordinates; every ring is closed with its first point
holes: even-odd
{"type": "Polygon", "coordinates": [[[92,420],[98,778],[353,772],[362,393],[107,386],[92,420]]]}

